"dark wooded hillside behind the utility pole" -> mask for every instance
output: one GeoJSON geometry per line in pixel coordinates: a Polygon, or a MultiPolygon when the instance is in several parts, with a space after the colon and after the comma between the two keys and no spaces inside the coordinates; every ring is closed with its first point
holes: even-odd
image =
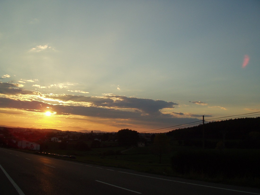
{"type": "MultiPolygon", "coordinates": [[[[260,117],[215,121],[204,124],[205,147],[260,148],[260,117]]],[[[176,129],[166,133],[180,145],[202,146],[203,125],[176,129]]]]}

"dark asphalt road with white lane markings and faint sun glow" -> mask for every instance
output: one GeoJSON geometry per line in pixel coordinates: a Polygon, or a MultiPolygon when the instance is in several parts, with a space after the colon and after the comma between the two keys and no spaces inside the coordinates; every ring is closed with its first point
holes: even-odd
{"type": "Polygon", "coordinates": [[[260,195],[260,189],[159,176],[0,148],[0,194],[260,195]]]}

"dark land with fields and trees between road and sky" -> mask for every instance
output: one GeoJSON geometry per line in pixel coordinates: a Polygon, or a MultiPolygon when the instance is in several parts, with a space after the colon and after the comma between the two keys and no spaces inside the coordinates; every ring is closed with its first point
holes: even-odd
{"type": "MultiPolygon", "coordinates": [[[[37,134],[38,137],[41,137],[41,133],[45,134],[40,138],[40,155],[168,176],[259,187],[260,118],[211,122],[205,124],[204,128],[205,149],[202,149],[202,125],[160,134],[138,134],[129,129],[99,134],[28,131],[30,135],[37,134]],[[50,141],[51,136],[60,136],[60,142],[50,141]],[[138,142],[145,146],[138,147],[138,142]],[[69,158],[70,156],[73,157],[69,158]]],[[[13,134],[17,136],[18,132],[21,135],[21,131],[13,130],[0,129],[0,146],[11,147],[11,144],[5,144],[6,139],[13,134]]],[[[24,131],[24,136],[28,136],[28,131],[24,131]]]]}

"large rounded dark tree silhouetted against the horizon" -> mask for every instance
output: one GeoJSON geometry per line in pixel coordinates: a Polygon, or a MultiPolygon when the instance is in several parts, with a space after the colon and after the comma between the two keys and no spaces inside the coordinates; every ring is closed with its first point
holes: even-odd
{"type": "Polygon", "coordinates": [[[120,146],[134,146],[137,145],[139,133],[131,129],[121,129],[116,133],[118,144],[120,146]]]}

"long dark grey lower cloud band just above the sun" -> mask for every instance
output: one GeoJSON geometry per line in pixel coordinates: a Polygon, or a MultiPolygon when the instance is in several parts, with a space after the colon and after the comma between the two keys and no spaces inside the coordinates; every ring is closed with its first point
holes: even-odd
{"type": "MultiPolygon", "coordinates": [[[[14,100],[10,98],[0,97],[0,107],[1,108],[12,108],[20,109],[25,111],[33,112],[45,112],[47,107],[51,108],[52,112],[56,112],[56,115],[79,115],[88,116],[88,118],[81,120],[91,120],[89,117],[94,117],[95,121],[101,120],[106,123],[110,121],[110,125],[118,122],[122,127],[122,123],[125,122],[127,126],[129,125],[141,125],[142,127],[147,126],[154,128],[164,126],[172,126],[174,124],[181,124],[187,122],[194,122],[198,119],[191,118],[176,118],[171,114],[158,114],[158,115],[147,115],[140,111],[129,111],[120,110],[115,108],[106,107],[96,107],[96,106],[71,106],[71,105],[51,105],[48,103],[43,103],[42,101],[22,101],[14,100]]],[[[135,107],[135,106],[131,106],[135,107]]],[[[160,106],[161,107],[161,106],[160,106]]],[[[50,109],[48,109],[50,110],[50,109]]],[[[70,116],[71,117],[71,116],[70,116]]],[[[116,124],[114,125],[116,126],[116,124]]]]}

